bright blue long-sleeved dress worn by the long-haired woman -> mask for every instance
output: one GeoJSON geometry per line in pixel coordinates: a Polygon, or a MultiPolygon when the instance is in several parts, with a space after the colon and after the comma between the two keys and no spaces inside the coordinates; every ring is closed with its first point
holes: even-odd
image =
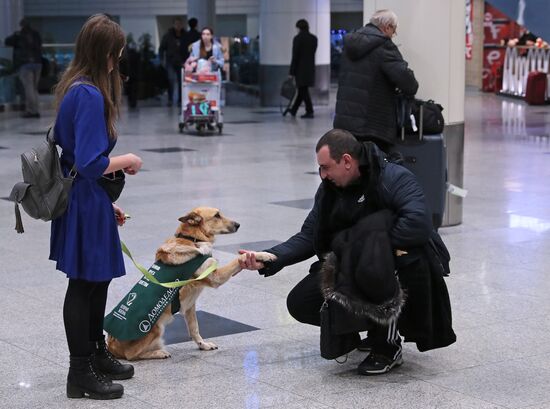
{"type": "Polygon", "coordinates": [[[78,172],[67,211],[52,221],[50,260],[68,278],[108,281],[123,276],[118,226],[107,193],[97,184],[116,140],[109,138],[101,92],[90,85],[69,89],[57,114],[55,140],[65,174],[78,172]]]}

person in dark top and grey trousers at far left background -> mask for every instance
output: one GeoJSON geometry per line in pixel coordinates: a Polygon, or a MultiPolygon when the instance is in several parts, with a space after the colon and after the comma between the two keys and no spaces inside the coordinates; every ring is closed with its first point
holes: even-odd
{"type": "Polygon", "coordinates": [[[26,18],[19,22],[20,31],[16,31],[4,41],[13,47],[13,64],[18,70],[19,79],[25,90],[25,112],[23,118],[40,118],[38,112],[38,82],[42,72],[42,39],[31,28],[26,18]]]}

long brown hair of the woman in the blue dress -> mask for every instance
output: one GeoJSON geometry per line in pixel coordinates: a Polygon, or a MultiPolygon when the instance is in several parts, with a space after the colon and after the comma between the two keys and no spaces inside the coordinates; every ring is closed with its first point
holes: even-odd
{"type": "Polygon", "coordinates": [[[55,86],[56,111],[71,84],[83,79],[95,85],[103,95],[105,121],[111,138],[116,138],[116,119],[119,115],[122,82],[118,57],[126,40],[120,26],[105,14],[91,16],[76,38],[74,59],[55,86]],[[109,73],[111,59],[113,70],[109,73]]]}

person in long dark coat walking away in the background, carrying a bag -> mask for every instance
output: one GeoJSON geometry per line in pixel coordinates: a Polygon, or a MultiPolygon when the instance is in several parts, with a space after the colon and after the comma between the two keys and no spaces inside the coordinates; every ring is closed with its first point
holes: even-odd
{"type": "Polygon", "coordinates": [[[294,77],[298,95],[290,109],[286,109],[283,116],[288,112],[296,116],[302,101],[306,104],[306,113],[301,118],[313,118],[313,104],[309,95],[308,87],[315,84],[315,51],[317,50],[317,37],[309,32],[309,24],[301,19],[296,22],[299,33],[292,41],[292,61],[290,63],[290,76],[294,77]]]}

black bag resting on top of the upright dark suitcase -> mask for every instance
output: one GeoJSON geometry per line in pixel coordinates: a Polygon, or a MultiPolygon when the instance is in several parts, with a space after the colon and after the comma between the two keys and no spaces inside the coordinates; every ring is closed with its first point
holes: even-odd
{"type": "Polygon", "coordinates": [[[405,127],[407,135],[418,134],[419,128],[425,135],[440,134],[445,127],[442,111],[443,107],[435,103],[433,99],[422,101],[400,95],[397,107],[397,126],[399,129],[405,127]],[[422,115],[420,115],[421,107],[423,108],[422,115]],[[421,118],[422,124],[420,124],[421,118]]]}

